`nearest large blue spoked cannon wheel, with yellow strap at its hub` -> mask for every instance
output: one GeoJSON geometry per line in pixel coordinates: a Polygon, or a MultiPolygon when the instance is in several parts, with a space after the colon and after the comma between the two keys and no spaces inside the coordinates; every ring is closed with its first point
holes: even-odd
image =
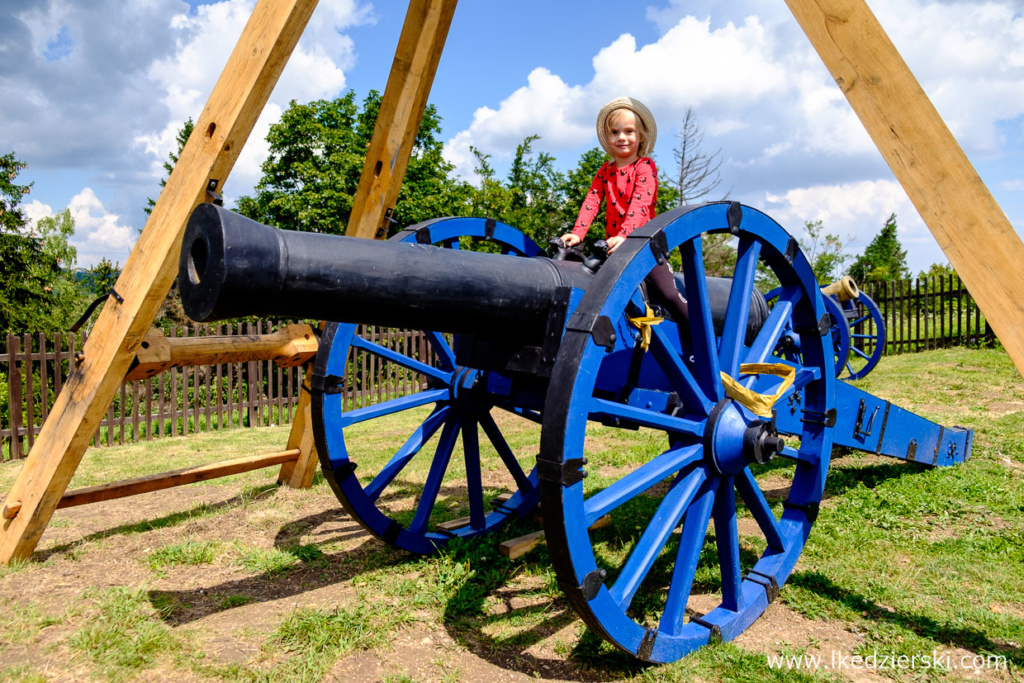
{"type": "Polygon", "coordinates": [[[673,661],[711,640],[735,638],[777,595],[814,523],[828,471],[831,340],[810,332],[824,313],[796,242],[759,211],[743,207],[740,216],[737,204],[684,207],[659,216],[633,232],[598,272],[559,349],[539,457],[545,533],[558,582],[598,635],[641,659],[673,661]],[[716,337],[700,294],[700,234],[730,226],[738,237],[738,258],[726,324],[716,337]],[[686,351],[680,352],[674,326],[666,321],[651,328],[644,352],[625,318],[643,310],[639,286],[658,256],[676,248],[690,293],[686,351]],[[746,346],[759,261],[774,272],[781,291],[746,346]],[[772,356],[790,321],[802,333],[799,364],[772,356]],[[630,390],[610,393],[637,354],[641,361],[629,377],[630,390]],[[720,373],[760,393],[773,392],[781,381],[741,375],[740,364],[748,362],[793,369],[794,383],[775,408],[803,412],[801,431],[792,435],[797,440],[780,443],[769,419],[726,396],[720,373]],[[660,432],[660,452],[608,485],[588,487],[584,470],[601,467],[588,463],[585,450],[598,423],[660,432]],[[758,443],[765,449],[759,452],[758,443]],[[780,458],[769,463],[778,447],[780,458]],[[769,503],[762,489],[757,475],[769,469],[771,496],[784,501],[769,503]],[[784,486],[779,477],[785,477],[784,486]],[[608,513],[610,527],[588,531],[608,513]]]}

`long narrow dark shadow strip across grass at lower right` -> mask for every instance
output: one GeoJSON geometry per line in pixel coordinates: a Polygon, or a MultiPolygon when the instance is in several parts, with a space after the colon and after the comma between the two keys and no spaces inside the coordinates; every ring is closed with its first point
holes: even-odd
{"type": "Polygon", "coordinates": [[[1009,661],[1014,663],[1017,667],[1024,667],[1024,650],[1018,646],[996,643],[984,632],[975,628],[938,622],[924,614],[900,610],[889,611],[864,596],[839,586],[818,571],[796,571],[790,577],[787,583],[861,614],[866,614],[865,618],[872,622],[891,624],[911,631],[922,638],[953,647],[963,647],[976,653],[983,651],[1005,654],[1009,661]]]}

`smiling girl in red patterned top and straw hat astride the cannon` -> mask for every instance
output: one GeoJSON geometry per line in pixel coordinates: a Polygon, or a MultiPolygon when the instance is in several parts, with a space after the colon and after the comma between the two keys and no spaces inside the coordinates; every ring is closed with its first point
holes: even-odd
{"type": "MultiPolygon", "coordinates": [[[[597,139],[611,161],[598,169],[575,226],[562,236],[562,244],[572,247],[583,241],[602,200],[606,205],[605,239],[609,254],[626,241],[626,236],[654,217],[657,169],[647,155],[656,138],[654,117],[642,102],[620,97],[601,108],[597,115],[597,139]]],[[[672,313],[682,338],[688,319],[686,299],[676,289],[676,279],[668,263],[655,266],[646,282],[653,290],[655,303],[672,313]]]]}

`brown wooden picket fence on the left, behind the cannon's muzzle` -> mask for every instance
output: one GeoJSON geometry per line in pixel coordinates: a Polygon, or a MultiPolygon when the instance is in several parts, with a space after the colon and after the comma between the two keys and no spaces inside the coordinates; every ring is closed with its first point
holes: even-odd
{"type": "MultiPolygon", "coordinates": [[[[238,326],[191,326],[169,337],[267,334],[269,322],[238,326]]],[[[366,328],[370,341],[428,362],[433,351],[422,333],[366,328]]],[[[0,352],[0,461],[25,458],[75,364],[86,335],[7,335],[0,352]]],[[[353,353],[344,382],[346,410],[419,391],[425,380],[382,362],[371,353],[353,353]]],[[[92,439],[106,446],[214,429],[285,424],[292,420],[302,387],[302,369],[272,361],[173,368],[150,380],[124,382],[92,439]]]]}

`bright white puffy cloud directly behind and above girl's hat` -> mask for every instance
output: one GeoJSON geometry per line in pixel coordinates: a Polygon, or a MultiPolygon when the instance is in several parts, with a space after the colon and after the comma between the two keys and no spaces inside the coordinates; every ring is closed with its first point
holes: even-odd
{"type": "Polygon", "coordinates": [[[643,100],[662,122],[658,135],[664,141],[658,148],[668,156],[673,124],[686,106],[723,113],[717,131],[752,125],[742,116],[725,113],[742,111],[784,86],[786,75],[769,58],[770,52],[770,37],[756,17],[711,29],[708,20],[687,16],[648,45],[638,45],[632,35],[624,34],[594,56],[594,78],[589,83],[569,85],[548,69],[535,69],[526,85],[502,100],[497,110],[478,109],[469,128],[449,140],[445,157],[468,176],[470,145],[508,157],[531,134],[541,135],[545,150],[596,143],[598,109],[627,94],[643,100]]]}

